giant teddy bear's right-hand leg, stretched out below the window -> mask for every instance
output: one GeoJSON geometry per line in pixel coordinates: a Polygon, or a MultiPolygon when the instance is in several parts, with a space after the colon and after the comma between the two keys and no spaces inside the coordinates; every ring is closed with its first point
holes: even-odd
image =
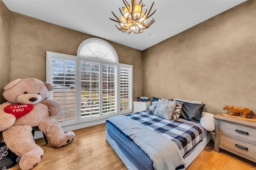
{"type": "Polygon", "coordinates": [[[56,148],[69,144],[75,137],[74,132],[64,133],[60,124],[52,118],[42,120],[38,127],[56,148]]]}

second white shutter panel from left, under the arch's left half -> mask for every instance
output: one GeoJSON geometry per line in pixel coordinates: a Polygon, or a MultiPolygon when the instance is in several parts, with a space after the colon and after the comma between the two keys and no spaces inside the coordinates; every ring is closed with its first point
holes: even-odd
{"type": "Polygon", "coordinates": [[[100,64],[81,61],[81,118],[100,116],[100,64]]]}

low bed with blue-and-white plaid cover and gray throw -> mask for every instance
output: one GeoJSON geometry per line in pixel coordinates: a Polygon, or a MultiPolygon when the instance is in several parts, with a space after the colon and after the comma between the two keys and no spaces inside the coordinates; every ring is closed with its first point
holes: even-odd
{"type": "Polygon", "coordinates": [[[142,111],[110,117],[106,140],[128,170],[184,170],[208,144],[210,133],[199,122],[142,111]]]}

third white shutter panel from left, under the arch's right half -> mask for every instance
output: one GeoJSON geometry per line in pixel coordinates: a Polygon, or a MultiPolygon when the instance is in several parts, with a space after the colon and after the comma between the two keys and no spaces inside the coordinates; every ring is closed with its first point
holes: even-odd
{"type": "Polygon", "coordinates": [[[117,113],[117,66],[103,64],[102,69],[102,112],[109,115],[117,113]]]}

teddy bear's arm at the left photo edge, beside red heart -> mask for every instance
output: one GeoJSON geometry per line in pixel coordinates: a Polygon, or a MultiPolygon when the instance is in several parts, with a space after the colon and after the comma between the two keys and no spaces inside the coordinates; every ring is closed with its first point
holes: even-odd
{"type": "Polygon", "coordinates": [[[5,102],[2,105],[0,105],[0,131],[6,130],[7,128],[11,127],[14,122],[16,121],[16,118],[14,115],[5,113],[4,108],[8,105],[12,105],[13,103],[5,102]]]}

